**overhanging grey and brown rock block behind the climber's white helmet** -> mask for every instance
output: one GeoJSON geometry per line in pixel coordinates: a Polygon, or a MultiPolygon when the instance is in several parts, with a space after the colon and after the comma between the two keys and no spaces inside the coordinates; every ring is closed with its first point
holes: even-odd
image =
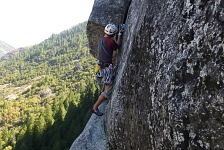
{"type": "Polygon", "coordinates": [[[87,23],[90,53],[97,57],[97,41],[108,23],[124,23],[131,0],[95,0],[87,23]]]}

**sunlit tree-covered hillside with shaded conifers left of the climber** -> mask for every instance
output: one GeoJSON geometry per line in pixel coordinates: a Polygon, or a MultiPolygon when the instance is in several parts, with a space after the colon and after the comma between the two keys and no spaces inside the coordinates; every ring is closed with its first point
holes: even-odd
{"type": "Polygon", "coordinates": [[[0,60],[0,149],[68,150],[99,94],[86,23],[0,60]]]}

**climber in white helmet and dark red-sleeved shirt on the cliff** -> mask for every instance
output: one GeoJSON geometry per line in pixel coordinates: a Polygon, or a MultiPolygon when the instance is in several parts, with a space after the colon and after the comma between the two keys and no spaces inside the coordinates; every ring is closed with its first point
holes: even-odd
{"type": "Polygon", "coordinates": [[[114,65],[113,52],[121,46],[121,36],[123,30],[119,30],[118,38],[115,41],[114,37],[118,33],[118,28],[115,24],[108,24],[104,29],[104,36],[98,41],[98,64],[96,66],[96,77],[102,79],[103,87],[101,94],[93,105],[93,113],[102,116],[98,106],[106,99],[110,99],[113,91],[114,82],[114,65]]]}

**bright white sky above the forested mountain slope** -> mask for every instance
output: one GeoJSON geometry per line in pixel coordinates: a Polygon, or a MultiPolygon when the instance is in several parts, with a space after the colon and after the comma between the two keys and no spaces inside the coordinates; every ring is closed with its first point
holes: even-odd
{"type": "Polygon", "coordinates": [[[87,21],[94,0],[0,0],[0,40],[15,47],[38,44],[87,21]]]}

